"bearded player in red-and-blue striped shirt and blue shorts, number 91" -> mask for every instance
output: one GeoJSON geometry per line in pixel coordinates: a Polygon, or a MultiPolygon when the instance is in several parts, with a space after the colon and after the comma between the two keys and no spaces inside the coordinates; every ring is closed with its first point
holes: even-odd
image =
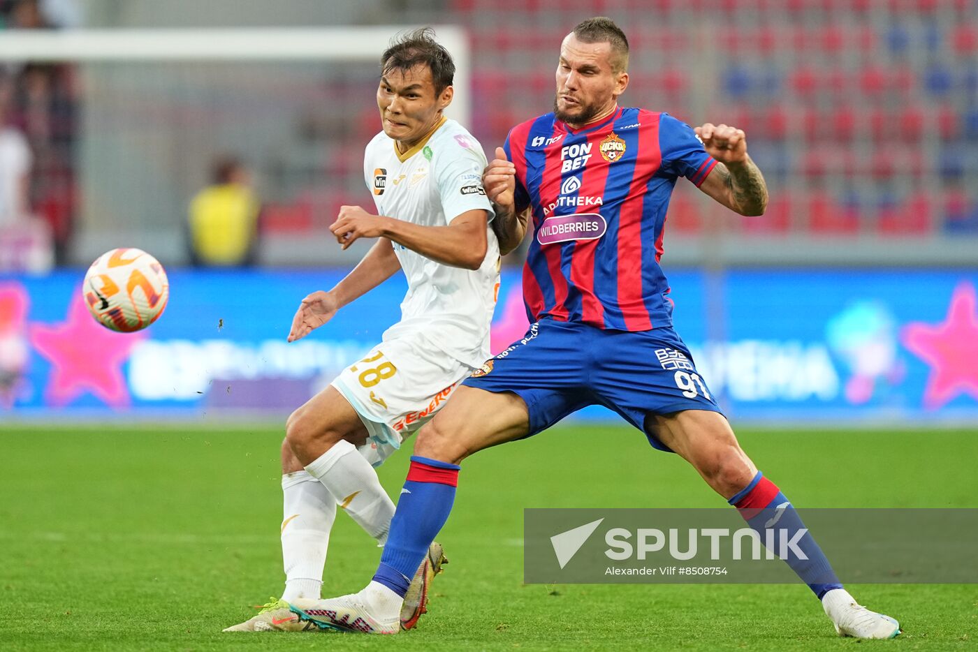
{"type": "Polygon", "coordinates": [[[627,67],[628,41],[614,22],[578,24],[560,48],[554,112],[514,127],[486,168],[500,248],[513,248],[534,222],[523,271],[532,325],[422,428],[374,581],[292,604],[303,627],[396,632],[401,597],[451,511],[459,462],[600,404],[654,448],[687,459],[762,541],[774,523],[798,534],[804,554],[786,561],[839,634],[900,633],[894,619],[857,604],[812,535],[802,536],[798,513],[740,449],[672,327],[659,257],[673,186],[686,177],[740,214],[763,213],[767,189],[745,135],[620,108],[627,67]]]}

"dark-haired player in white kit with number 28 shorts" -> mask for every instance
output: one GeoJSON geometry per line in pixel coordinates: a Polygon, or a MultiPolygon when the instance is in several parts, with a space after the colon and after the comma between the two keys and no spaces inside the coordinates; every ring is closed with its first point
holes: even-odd
{"type": "MultiPolygon", "coordinates": [[[[342,206],[331,227],[344,249],[361,238],[377,242],[333,289],[302,300],[289,341],[323,326],[399,269],[408,292],[401,321],[384,331],[382,341],[289,416],[282,446],[285,600],[320,597],[337,504],[380,545],[385,542],[394,504],[374,466],[490,355],[499,245],[482,188],[485,154],[462,125],[443,115],[452,102],[455,65],[424,28],[397,38],[380,67],[383,130],[364,154],[377,214],[342,206]]],[[[432,544],[411,600],[405,600],[405,629],[424,612],[427,583],[443,561],[440,546],[432,544]]],[[[259,614],[225,631],[285,625],[259,614]]]]}

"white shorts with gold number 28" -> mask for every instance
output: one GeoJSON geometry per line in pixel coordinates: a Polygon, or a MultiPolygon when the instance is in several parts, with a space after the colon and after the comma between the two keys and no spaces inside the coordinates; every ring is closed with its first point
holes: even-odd
{"type": "Polygon", "coordinates": [[[473,370],[415,333],[381,342],[331,384],[367,426],[369,440],[361,455],[379,466],[473,370]]]}

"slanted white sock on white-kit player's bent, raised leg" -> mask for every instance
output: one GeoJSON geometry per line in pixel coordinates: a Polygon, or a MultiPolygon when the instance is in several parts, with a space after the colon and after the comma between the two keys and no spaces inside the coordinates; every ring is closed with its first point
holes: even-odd
{"type": "Polygon", "coordinates": [[[309,463],[306,470],[330,490],[340,508],[367,534],[380,545],[387,541],[394,502],[380,486],[377,471],[357,447],[342,440],[309,463]]]}

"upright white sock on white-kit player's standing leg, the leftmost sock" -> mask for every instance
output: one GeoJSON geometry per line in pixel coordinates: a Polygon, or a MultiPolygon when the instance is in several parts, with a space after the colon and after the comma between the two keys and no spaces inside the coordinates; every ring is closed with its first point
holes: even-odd
{"type": "Polygon", "coordinates": [[[282,499],[282,563],[286,570],[282,599],[318,600],[336,501],[306,471],[282,476],[282,499]]]}

